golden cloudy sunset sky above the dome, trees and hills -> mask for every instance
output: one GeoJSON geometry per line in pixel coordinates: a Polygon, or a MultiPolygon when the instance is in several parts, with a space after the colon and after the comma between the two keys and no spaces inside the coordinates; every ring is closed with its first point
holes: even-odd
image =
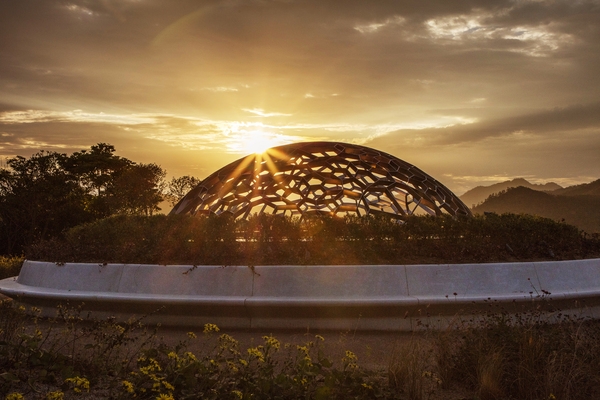
{"type": "Polygon", "coordinates": [[[2,0],[0,157],[342,141],[460,195],[600,178],[600,0],[2,0]]]}

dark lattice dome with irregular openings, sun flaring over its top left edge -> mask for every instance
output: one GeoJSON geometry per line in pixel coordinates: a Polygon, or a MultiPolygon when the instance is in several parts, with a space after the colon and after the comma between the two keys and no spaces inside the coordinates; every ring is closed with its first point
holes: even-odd
{"type": "Polygon", "coordinates": [[[273,147],[219,169],[192,189],[171,214],[254,213],[288,216],[383,213],[471,215],[449,189],[390,154],[338,142],[273,147]]]}

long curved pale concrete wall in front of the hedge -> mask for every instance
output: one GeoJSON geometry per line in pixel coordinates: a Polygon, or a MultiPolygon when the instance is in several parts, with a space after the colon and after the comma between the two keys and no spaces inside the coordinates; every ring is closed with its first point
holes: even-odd
{"type": "Polygon", "coordinates": [[[532,303],[600,317],[600,259],[256,267],[26,261],[18,277],[0,281],[0,293],[46,315],[68,302],[84,303],[92,316],[148,314],[166,325],[411,330],[532,303]]]}

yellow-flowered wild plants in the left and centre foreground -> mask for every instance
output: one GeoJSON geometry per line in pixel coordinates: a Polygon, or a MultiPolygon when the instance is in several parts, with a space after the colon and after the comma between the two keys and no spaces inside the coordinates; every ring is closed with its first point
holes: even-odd
{"type": "Polygon", "coordinates": [[[201,338],[190,332],[168,345],[137,320],[83,323],[66,308],[51,320],[31,320],[24,311],[10,302],[0,304],[1,396],[391,398],[381,373],[359,368],[350,351],[330,360],[319,335],[294,346],[265,336],[263,343],[242,349],[232,336],[207,324],[201,338]],[[199,352],[190,351],[192,345],[199,352]]]}

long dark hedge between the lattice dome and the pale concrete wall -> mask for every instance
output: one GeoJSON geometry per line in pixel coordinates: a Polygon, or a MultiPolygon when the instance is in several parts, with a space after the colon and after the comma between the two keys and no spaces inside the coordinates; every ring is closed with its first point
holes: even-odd
{"type": "Polygon", "coordinates": [[[529,215],[474,218],[118,215],[38,242],[56,262],[205,265],[405,264],[560,260],[600,255],[598,236],[529,215]]]}

